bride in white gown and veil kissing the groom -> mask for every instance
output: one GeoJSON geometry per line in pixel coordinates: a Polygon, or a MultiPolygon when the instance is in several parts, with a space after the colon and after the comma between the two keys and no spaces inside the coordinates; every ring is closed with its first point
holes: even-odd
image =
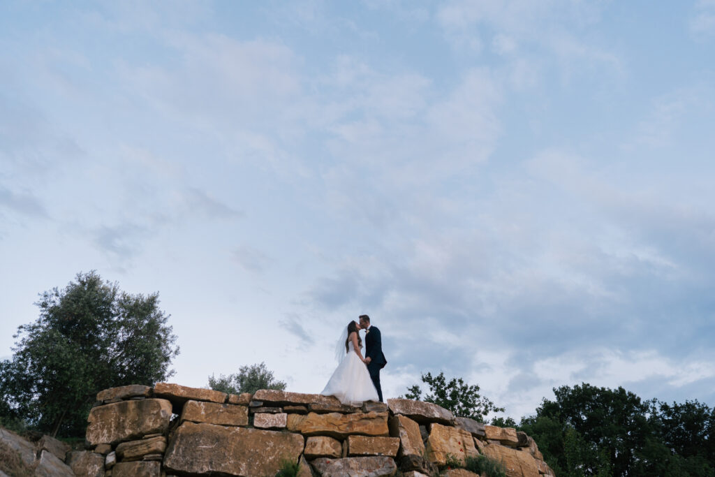
{"type": "Polygon", "coordinates": [[[366,400],[378,400],[378,390],[365,365],[360,325],[351,321],[337,342],[335,357],[340,364],[330,376],[320,394],[334,395],[343,404],[360,405],[366,400]]]}

